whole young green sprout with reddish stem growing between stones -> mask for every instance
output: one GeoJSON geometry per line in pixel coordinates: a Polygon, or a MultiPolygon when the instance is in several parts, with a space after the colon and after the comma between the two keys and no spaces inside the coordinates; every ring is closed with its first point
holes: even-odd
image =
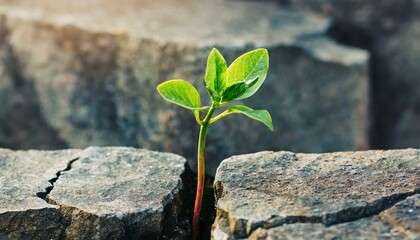
{"type": "Polygon", "coordinates": [[[190,109],[194,113],[197,123],[201,126],[198,139],[197,193],[192,222],[192,238],[194,240],[197,239],[198,221],[203,199],[204,148],[209,125],[230,114],[241,113],[262,122],[273,131],[271,116],[266,110],[254,110],[243,105],[234,105],[215,117],[213,117],[213,113],[216,109],[228,103],[252,96],[263,84],[267,71],[268,52],[266,49],[261,48],[247,52],[227,67],[224,57],[216,48],[213,48],[207,60],[204,77],[207,92],[211,98],[211,106],[201,106],[198,91],[187,81],[174,79],[161,83],[157,87],[158,92],[165,100],[190,109]],[[200,118],[200,112],[203,111],[207,111],[207,114],[204,118],[200,118]]]}

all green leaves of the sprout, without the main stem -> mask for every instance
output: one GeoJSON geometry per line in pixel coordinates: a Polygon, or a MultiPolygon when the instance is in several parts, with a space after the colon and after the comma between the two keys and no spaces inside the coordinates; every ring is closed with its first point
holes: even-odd
{"type": "MultiPolygon", "coordinates": [[[[226,61],[217,49],[213,49],[207,60],[205,82],[212,99],[213,107],[252,96],[264,82],[268,71],[268,52],[257,49],[237,58],[227,68],[226,61]]],[[[208,107],[201,106],[198,91],[189,82],[182,79],[169,80],[157,87],[160,95],[167,101],[194,112],[197,122],[201,124],[199,112],[208,107]]],[[[233,113],[241,113],[264,123],[273,130],[270,114],[265,110],[253,110],[246,106],[232,106],[209,123],[233,113]]]]}

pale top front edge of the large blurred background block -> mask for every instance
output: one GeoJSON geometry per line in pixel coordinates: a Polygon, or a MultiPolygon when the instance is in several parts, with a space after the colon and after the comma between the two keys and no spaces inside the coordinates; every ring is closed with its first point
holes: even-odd
{"type": "MultiPolygon", "coordinates": [[[[244,49],[249,48],[250,46],[253,46],[254,48],[258,47],[266,47],[266,48],[275,48],[275,47],[298,47],[303,49],[307,54],[312,56],[315,59],[318,59],[320,61],[326,62],[326,63],[333,63],[333,64],[339,64],[344,66],[358,66],[358,67],[367,67],[368,59],[369,59],[369,52],[365,51],[360,48],[350,47],[348,45],[343,45],[338,42],[335,42],[332,38],[330,38],[327,35],[328,29],[331,27],[332,20],[326,18],[325,26],[323,26],[322,31],[320,31],[317,34],[303,34],[300,36],[295,37],[293,40],[278,40],[277,42],[243,42],[242,44],[235,44],[235,45],[228,45],[223,43],[217,43],[217,42],[193,42],[188,40],[180,40],[180,39],[161,39],[156,36],[152,35],[141,35],[136,32],[121,32],[121,31],[112,31],[111,29],[95,29],[94,27],[84,26],[82,24],[78,23],[67,23],[63,21],[55,22],[54,24],[51,23],[51,21],[43,20],[40,16],[37,16],[37,14],[27,14],[24,11],[21,11],[20,9],[12,8],[13,11],[10,11],[10,7],[3,7],[0,6],[0,17],[4,18],[6,23],[9,20],[13,21],[24,21],[24,22],[30,22],[34,25],[39,25],[41,27],[47,27],[54,30],[59,30],[62,28],[72,28],[76,31],[80,31],[82,33],[88,33],[88,34],[106,34],[110,36],[115,36],[117,38],[135,38],[135,39],[142,39],[142,40],[149,40],[159,43],[160,45],[167,45],[167,44],[179,44],[179,45],[188,45],[195,47],[197,49],[210,49],[214,46],[224,46],[231,49],[244,49]],[[9,11],[8,11],[9,10],[9,11]],[[342,57],[336,57],[335,55],[328,55],[325,54],[325,51],[321,48],[314,48],[314,45],[312,44],[313,41],[316,41],[318,43],[322,43],[323,46],[328,48],[335,48],[339,52],[342,52],[343,55],[351,54],[356,57],[356,61],[350,61],[349,59],[344,59],[342,57]]],[[[309,11],[300,13],[308,13],[315,15],[309,11]]]]}

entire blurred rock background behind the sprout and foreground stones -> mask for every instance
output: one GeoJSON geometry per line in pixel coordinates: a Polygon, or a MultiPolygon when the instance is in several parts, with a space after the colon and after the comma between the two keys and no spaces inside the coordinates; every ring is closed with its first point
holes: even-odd
{"type": "MultiPolygon", "coordinates": [[[[156,86],[206,98],[208,52],[268,48],[243,116],[211,126],[208,171],[233,154],[420,147],[420,1],[0,0],[0,147],[134,146],[194,168],[198,127],[156,86]]],[[[206,102],[208,100],[204,100],[206,102]]]]}

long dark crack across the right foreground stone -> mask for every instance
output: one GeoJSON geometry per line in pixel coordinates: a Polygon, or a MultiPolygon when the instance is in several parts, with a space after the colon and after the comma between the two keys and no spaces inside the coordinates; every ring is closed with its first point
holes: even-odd
{"type": "Polygon", "coordinates": [[[334,213],[327,213],[323,215],[315,216],[276,216],[273,215],[267,221],[259,221],[256,223],[247,223],[247,236],[236,236],[237,238],[250,237],[252,233],[258,228],[270,229],[282,226],[284,224],[295,224],[295,223],[321,223],[326,227],[333,225],[352,222],[361,220],[363,218],[373,217],[379,215],[381,212],[395,206],[399,202],[404,201],[410,196],[420,194],[420,188],[407,193],[398,193],[390,196],[383,197],[376,201],[373,201],[366,206],[361,207],[349,207],[346,209],[339,210],[334,213]]]}

